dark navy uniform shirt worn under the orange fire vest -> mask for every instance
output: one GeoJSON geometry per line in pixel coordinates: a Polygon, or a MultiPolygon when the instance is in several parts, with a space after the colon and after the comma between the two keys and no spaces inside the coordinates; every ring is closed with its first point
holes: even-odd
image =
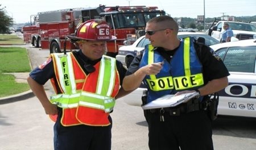
{"type": "MultiPolygon", "coordinates": [[[[88,57],[86,57],[81,50],[73,51],[72,53],[76,57],[77,61],[79,62],[79,65],[81,66],[81,68],[84,70],[86,74],[88,74],[88,71],[85,69],[84,67],[85,65],[93,66],[98,61],[101,60],[101,59],[98,59],[98,60],[92,61],[88,59],[88,57]]],[[[119,73],[120,84],[122,85],[122,81],[123,81],[123,78],[125,77],[126,69],[123,67],[120,61],[116,61],[116,65],[119,73]]],[[[30,73],[30,77],[33,78],[36,82],[38,82],[40,85],[46,84],[46,82],[50,78],[54,78],[56,80],[52,59],[49,58],[42,65],[32,70],[32,72],[30,73]]]]}

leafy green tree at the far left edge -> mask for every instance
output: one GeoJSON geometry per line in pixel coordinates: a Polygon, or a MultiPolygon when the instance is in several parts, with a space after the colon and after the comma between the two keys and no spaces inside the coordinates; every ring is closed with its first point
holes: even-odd
{"type": "Polygon", "coordinates": [[[13,18],[6,14],[5,7],[0,5],[0,34],[10,33],[9,27],[13,24],[13,18]]]}

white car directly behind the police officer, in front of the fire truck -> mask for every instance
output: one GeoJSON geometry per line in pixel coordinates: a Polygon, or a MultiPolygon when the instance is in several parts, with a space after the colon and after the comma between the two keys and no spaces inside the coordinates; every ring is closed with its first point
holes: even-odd
{"type": "MultiPolygon", "coordinates": [[[[188,36],[192,36],[195,39],[199,37],[203,37],[205,39],[205,44],[213,45],[218,44],[220,41],[212,38],[207,34],[203,34],[200,32],[178,32],[178,38],[182,39],[188,36]]],[[[135,41],[132,45],[127,45],[120,47],[118,50],[118,55],[116,56],[117,60],[121,61],[123,65],[129,67],[131,61],[133,61],[134,57],[137,55],[137,52],[140,52],[144,49],[145,45],[150,44],[150,41],[142,36],[138,40],[135,41]]]]}

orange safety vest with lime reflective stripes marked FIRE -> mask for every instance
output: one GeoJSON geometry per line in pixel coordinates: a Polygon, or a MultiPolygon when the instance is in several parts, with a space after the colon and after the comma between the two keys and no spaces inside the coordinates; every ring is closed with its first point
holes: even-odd
{"type": "Polygon", "coordinates": [[[86,76],[71,52],[51,56],[57,79],[52,85],[55,91],[56,86],[61,90],[61,94],[52,95],[51,102],[63,108],[61,124],[108,126],[120,86],[115,59],[102,56],[94,65],[96,70],[86,76]]]}

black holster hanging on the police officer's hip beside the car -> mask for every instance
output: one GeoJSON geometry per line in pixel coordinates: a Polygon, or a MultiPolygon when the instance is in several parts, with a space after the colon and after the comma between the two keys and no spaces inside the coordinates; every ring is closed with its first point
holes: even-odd
{"type": "Polygon", "coordinates": [[[218,109],[218,93],[213,93],[207,101],[207,111],[210,120],[215,120],[217,118],[218,109]]]}

